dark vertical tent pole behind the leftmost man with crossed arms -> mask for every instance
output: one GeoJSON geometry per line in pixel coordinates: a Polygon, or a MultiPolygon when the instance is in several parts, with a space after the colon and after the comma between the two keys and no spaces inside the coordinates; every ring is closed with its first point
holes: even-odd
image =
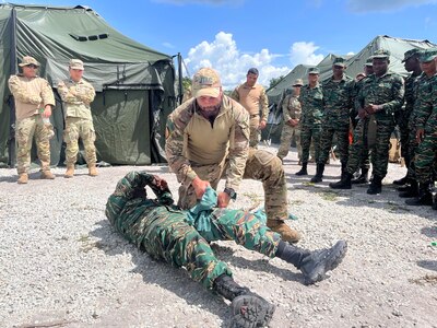
{"type": "MultiPolygon", "coordinates": [[[[10,52],[10,73],[16,74],[16,12],[15,8],[11,10],[11,17],[9,19],[10,31],[11,31],[11,52],[10,52]]],[[[9,138],[8,138],[8,165],[15,167],[16,154],[15,154],[15,102],[13,96],[10,95],[8,98],[10,115],[9,115],[9,138]]]]}

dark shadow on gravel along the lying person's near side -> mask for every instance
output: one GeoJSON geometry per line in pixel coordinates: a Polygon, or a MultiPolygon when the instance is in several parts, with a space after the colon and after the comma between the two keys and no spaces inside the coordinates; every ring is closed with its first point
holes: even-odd
{"type": "MultiPolygon", "coordinates": [[[[131,272],[141,274],[146,284],[156,284],[173,292],[178,297],[186,300],[188,305],[203,308],[216,315],[223,321],[222,328],[229,327],[231,314],[224,298],[191,280],[186,270],[172,267],[164,261],[156,261],[145,251],[138,249],[135,245],[130,244],[118,234],[108,221],[102,220],[96,224],[99,227],[90,232],[90,235],[99,238],[93,245],[94,247],[104,250],[109,256],[129,253],[132,262],[137,266],[131,272]]],[[[138,298],[138,296],[134,297],[138,298]]]]}

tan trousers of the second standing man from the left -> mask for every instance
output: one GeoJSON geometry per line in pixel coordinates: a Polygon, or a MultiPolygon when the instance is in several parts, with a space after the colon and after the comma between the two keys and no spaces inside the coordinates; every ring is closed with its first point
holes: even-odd
{"type": "Polygon", "coordinates": [[[67,143],[66,164],[74,165],[78,161],[79,138],[82,138],[86,163],[88,166],[95,164],[97,156],[93,121],[80,117],[67,117],[66,119],[66,130],[63,131],[63,140],[67,143]]]}

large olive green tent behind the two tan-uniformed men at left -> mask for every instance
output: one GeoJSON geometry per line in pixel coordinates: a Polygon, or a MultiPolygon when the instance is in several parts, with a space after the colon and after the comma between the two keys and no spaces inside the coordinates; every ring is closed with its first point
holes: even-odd
{"type": "Polygon", "coordinates": [[[164,125],[176,105],[172,57],[114,30],[86,7],[0,4],[0,162],[14,164],[14,108],[8,79],[29,55],[54,87],[51,164],[62,164],[63,110],[56,86],[68,63],[85,63],[96,90],[91,104],[98,161],[145,165],[165,161],[164,125]]]}

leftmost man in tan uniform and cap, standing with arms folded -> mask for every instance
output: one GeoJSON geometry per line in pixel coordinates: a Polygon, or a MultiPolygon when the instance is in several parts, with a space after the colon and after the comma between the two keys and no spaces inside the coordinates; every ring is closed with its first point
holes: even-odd
{"type": "Polygon", "coordinates": [[[16,171],[19,184],[27,184],[31,166],[32,141],[35,137],[37,155],[42,166],[42,179],[54,179],[50,172],[50,133],[44,120],[51,116],[55,106],[54,92],[47,80],[36,73],[39,68],[35,58],[25,56],[19,63],[22,73],[11,75],[8,84],[15,102],[16,171]]]}

